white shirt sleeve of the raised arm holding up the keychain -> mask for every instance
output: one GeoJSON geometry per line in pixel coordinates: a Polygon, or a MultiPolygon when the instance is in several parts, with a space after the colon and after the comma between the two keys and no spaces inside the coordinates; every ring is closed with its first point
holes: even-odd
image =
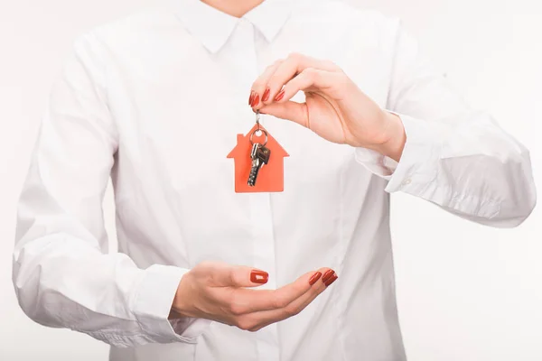
{"type": "Polygon", "coordinates": [[[518,226],[537,199],[528,150],[466,104],[420,56],[416,40],[396,29],[387,110],[403,122],[405,149],[397,163],[360,148],[358,161],[388,180],[388,192],[484,225],[518,226]]]}

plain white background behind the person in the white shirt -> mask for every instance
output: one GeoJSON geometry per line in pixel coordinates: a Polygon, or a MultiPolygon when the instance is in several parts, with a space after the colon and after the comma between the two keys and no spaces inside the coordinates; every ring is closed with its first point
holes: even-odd
{"type": "MultiPolygon", "coordinates": [[[[51,82],[72,40],[159,3],[164,0],[0,0],[0,360],[107,359],[105,344],[43,328],[18,308],[11,283],[15,207],[51,82]]],[[[455,87],[528,146],[542,192],[542,3],[350,3],[403,18],[455,87]]],[[[114,235],[111,192],[105,211],[114,235]]],[[[392,227],[410,361],[542,360],[541,207],[521,227],[503,230],[397,194],[392,227]]]]}

